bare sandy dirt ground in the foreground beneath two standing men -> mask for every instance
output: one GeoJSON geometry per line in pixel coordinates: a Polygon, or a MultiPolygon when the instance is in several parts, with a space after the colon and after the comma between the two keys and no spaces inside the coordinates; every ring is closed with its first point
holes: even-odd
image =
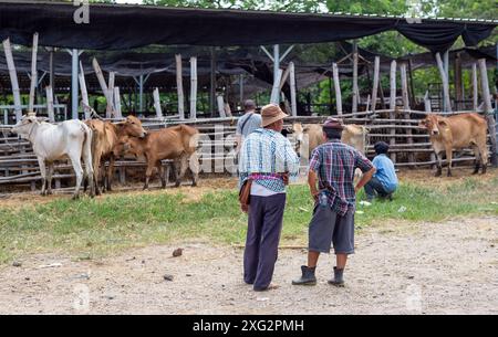
{"type": "Polygon", "coordinates": [[[34,255],[0,268],[0,314],[498,314],[497,245],[497,217],[386,223],[357,234],[344,288],[326,283],[329,255],[317,286],[292,286],[305,251],[284,249],[279,287],[263,293],[242,282],[241,249],[204,242],[100,261],[34,255]]]}

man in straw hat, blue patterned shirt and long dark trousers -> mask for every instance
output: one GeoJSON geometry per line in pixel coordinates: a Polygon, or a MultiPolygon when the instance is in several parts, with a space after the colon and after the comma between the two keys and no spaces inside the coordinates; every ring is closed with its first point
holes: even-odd
{"type": "Polygon", "coordinates": [[[278,105],[261,109],[262,128],[243,141],[239,158],[240,187],[251,183],[243,281],[257,292],[271,288],[286,208],[286,185],[299,172],[299,158],[282,136],[284,114],[278,105]]]}

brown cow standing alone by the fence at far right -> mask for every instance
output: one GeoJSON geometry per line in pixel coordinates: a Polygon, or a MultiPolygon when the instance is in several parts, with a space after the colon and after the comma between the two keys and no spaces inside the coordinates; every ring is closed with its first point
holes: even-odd
{"type": "Polygon", "coordinates": [[[483,165],[483,173],[486,173],[488,162],[487,122],[478,114],[459,114],[449,117],[427,115],[418,124],[429,131],[430,143],[437,159],[436,177],[442,175],[442,155],[446,151],[448,160],[448,177],[452,176],[453,149],[470,147],[476,155],[476,167],[474,175],[479,172],[483,165]]]}

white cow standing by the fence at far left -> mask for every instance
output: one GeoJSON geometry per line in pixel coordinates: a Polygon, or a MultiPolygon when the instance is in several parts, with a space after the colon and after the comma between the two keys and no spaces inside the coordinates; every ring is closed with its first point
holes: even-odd
{"type": "Polygon", "coordinates": [[[93,168],[92,168],[92,130],[81,120],[65,120],[54,125],[40,122],[34,115],[29,114],[12,128],[22,138],[28,139],[37,155],[42,175],[42,196],[52,193],[53,162],[69,157],[76,173],[76,189],[73,199],[80,196],[83,180],[81,158],[85,162],[86,177],[94,196],[93,168]],[[49,171],[46,172],[46,167],[49,171]]]}

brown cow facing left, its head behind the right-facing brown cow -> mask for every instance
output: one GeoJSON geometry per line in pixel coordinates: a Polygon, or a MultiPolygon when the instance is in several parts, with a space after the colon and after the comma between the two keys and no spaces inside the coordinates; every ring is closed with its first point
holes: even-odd
{"type": "MultiPolygon", "coordinates": [[[[160,164],[160,160],[173,159],[175,160],[175,164],[179,161],[179,175],[176,172],[176,169],[174,170],[176,176],[176,187],[178,187],[188,168],[188,160],[197,149],[198,135],[199,131],[196,128],[188,125],[178,125],[160,130],[153,130],[142,139],[136,137],[122,137],[120,138],[118,146],[114,149],[114,155],[117,157],[129,152],[136,157],[145,156],[147,170],[145,172],[144,190],[148,188],[148,181],[154,167],[157,167],[162,186],[163,188],[166,188],[164,167],[160,164]]],[[[191,186],[197,186],[198,170],[191,170],[191,186]]]]}

